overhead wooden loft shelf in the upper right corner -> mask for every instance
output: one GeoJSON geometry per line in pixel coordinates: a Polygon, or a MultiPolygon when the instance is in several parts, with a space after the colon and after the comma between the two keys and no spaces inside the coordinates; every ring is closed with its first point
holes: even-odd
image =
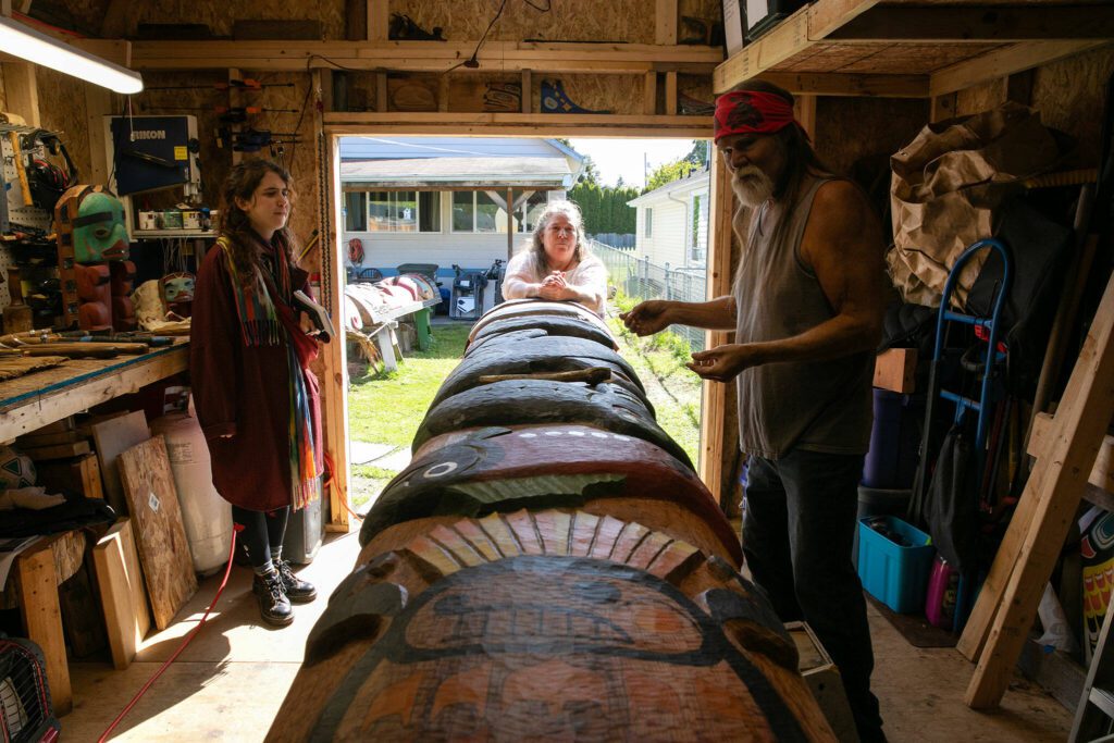
{"type": "Polygon", "coordinates": [[[817,0],[716,67],[713,89],[761,77],[797,94],[940,96],[1112,37],[1114,7],[1101,0],[817,0]]]}

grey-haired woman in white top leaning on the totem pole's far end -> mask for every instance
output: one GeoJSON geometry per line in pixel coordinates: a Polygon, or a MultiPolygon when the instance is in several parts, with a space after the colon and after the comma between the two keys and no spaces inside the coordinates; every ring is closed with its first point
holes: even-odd
{"type": "Polygon", "coordinates": [[[502,295],[579,302],[604,315],[607,268],[588,252],[576,204],[550,202],[546,206],[530,244],[507,264],[502,295]]]}

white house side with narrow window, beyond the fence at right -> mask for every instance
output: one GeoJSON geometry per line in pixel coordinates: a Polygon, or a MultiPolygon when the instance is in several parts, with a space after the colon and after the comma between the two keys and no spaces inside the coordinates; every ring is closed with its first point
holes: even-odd
{"type": "Polygon", "coordinates": [[[635,254],[672,271],[700,270],[707,260],[707,170],[627,202],[637,209],[635,254]]]}

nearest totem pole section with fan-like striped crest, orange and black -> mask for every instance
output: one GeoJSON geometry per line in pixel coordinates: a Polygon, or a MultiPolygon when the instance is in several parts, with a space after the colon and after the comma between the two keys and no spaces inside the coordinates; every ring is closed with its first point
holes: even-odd
{"type": "Polygon", "coordinates": [[[584,511],[459,519],[333,593],[271,741],[833,741],[764,596],[584,511]]]}

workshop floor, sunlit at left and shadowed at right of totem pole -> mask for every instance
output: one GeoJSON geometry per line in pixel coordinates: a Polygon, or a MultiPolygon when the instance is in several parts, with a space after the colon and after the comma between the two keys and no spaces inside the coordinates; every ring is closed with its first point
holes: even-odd
{"type": "MultiPolygon", "coordinates": [[[[302,575],[321,596],[295,607],[294,624],[258,624],[251,578],[234,568],[206,626],[116,729],[119,741],[261,741],[297,673],[305,638],[325,597],[346,576],[359,553],[356,535],[331,535],[302,575]]],[[[131,696],[201,619],[221,576],[201,590],[177,622],[144,643],[124,672],[109,663],[74,663],[74,712],[62,717],[63,741],[96,741],[131,696]]],[[[978,713],[962,703],[974,666],[955,649],[918,649],[872,607],[870,626],[877,665],[874,692],[890,741],[1064,741],[1072,714],[1019,676],[1000,710],[978,713]]]]}

